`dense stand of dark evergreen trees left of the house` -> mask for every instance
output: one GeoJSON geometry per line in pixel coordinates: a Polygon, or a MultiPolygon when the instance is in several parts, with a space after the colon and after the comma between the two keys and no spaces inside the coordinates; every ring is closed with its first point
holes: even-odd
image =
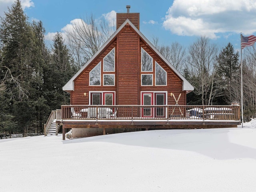
{"type": "Polygon", "coordinates": [[[70,103],[62,91],[78,68],[62,34],[51,48],[42,22],[28,22],[19,0],[0,21],[0,134],[43,132],[51,110],[70,103]]]}

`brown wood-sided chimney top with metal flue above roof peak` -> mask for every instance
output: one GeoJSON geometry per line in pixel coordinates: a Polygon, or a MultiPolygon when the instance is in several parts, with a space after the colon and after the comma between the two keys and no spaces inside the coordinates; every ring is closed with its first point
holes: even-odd
{"type": "Polygon", "coordinates": [[[140,13],[130,13],[130,5],[126,5],[127,13],[116,13],[116,29],[118,29],[126,19],[129,19],[134,26],[140,30],[140,13]]]}

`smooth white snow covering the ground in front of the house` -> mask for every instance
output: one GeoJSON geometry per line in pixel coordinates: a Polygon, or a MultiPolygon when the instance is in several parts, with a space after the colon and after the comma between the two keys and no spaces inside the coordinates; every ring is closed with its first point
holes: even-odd
{"type": "Polygon", "coordinates": [[[1,192],[255,192],[256,120],[244,128],[0,140],[1,192]]]}

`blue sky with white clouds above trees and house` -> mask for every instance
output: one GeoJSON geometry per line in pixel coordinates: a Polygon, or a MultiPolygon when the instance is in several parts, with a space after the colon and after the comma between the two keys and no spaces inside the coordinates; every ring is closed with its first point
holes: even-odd
{"type": "MultiPolygon", "coordinates": [[[[14,0],[0,0],[0,16],[14,0]]],[[[29,20],[41,20],[46,38],[65,33],[72,20],[94,15],[115,19],[116,12],[140,13],[140,31],[160,44],[179,42],[188,48],[198,37],[207,36],[223,48],[231,42],[240,51],[240,32],[256,35],[255,0],[21,0],[29,20]]]]}

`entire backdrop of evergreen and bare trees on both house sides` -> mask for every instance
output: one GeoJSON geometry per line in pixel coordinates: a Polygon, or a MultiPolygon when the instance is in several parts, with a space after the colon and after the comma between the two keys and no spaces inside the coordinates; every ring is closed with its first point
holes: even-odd
{"type": "MultiPolygon", "coordinates": [[[[93,16],[76,20],[64,41],[57,32],[49,48],[41,21],[28,22],[20,0],[0,18],[0,134],[43,132],[51,110],[70,103],[62,87],[113,34],[114,25],[93,16]]],[[[205,36],[188,48],[178,42],[152,44],[194,86],[188,105],[241,103],[239,52],[222,49],[205,36]]],[[[243,52],[244,117],[256,115],[256,49],[243,52]]]]}

